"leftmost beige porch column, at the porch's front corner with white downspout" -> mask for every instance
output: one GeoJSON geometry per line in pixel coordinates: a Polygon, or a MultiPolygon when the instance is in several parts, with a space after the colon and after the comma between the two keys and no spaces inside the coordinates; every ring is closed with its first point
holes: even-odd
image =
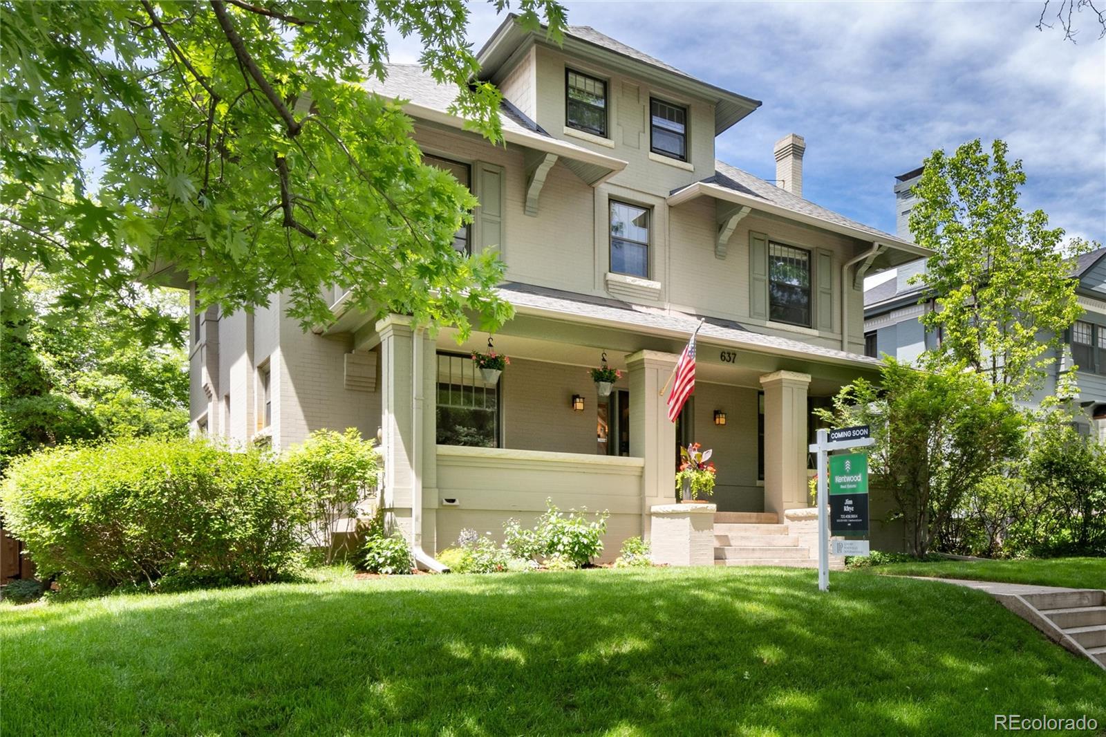
{"type": "Polygon", "coordinates": [[[384,446],[384,498],[392,522],[411,544],[429,531],[434,549],[434,510],[438,505],[435,429],[437,353],[424,329],[407,315],[389,314],[376,323],[380,336],[380,421],[384,446]],[[421,499],[419,509],[413,508],[421,499]],[[429,507],[429,509],[427,509],[429,507]],[[428,513],[425,513],[428,512],[428,513]]]}

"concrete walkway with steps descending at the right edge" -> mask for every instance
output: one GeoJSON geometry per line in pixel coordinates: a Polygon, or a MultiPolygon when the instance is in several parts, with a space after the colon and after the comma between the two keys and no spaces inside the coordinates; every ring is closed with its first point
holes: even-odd
{"type": "Polygon", "coordinates": [[[1048,640],[1106,669],[1106,591],[1102,589],[1064,589],[919,575],[910,578],[985,591],[1043,632],[1048,640]]]}

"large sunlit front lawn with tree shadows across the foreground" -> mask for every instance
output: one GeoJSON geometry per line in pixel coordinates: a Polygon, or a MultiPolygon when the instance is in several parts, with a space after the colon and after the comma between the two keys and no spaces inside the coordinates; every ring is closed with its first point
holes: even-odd
{"type": "MultiPolygon", "coordinates": [[[[985,594],[813,571],[421,575],[0,608],[4,735],[962,735],[1106,725],[985,594]]],[[[1068,733],[1072,734],[1072,733],[1068,733]]]]}

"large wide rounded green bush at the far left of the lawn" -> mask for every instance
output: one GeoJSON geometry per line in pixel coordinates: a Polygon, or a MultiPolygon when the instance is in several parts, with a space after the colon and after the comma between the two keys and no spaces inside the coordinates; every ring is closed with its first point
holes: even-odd
{"type": "Polygon", "coordinates": [[[279,464],[202,440],[142,438],[15,460],[6,527],[42,575],[153,584],[169,573],[272,581],[298,562],[302,518],[279,464]]]}

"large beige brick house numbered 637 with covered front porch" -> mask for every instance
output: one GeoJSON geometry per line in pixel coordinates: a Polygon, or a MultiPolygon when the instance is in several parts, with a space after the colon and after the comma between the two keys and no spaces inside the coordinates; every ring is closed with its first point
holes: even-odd
{"type": "MultiPolygon", "coordinates": [[[[511,17],[479,60],[503,92],[505,145],[466,131],[447,112],[456,89],[418,66],[366,86],[408,101],[426,160],[479,198],[453,245],[498,249],[514,319],[458,343],[342,289],[316,332],[282,316],[279,294],[253,315],[208,309],[194,314],[196,429],[283,448],[321,427],[380,428],[384,504],[427,556],[552,498],[608,509],[613,557],[675,502],[678,445],[693,440],[719,468],[714,521],[770,522],[742,529],[795,547],[785,511],[808,507],[811,409],[876,376],[864,276],[927,251],[803,199],[797,135],[771,152],[778,184],[717,160],[716,136],[761,103],[591,28],[556,46],[511,17]],[[700,318],[695,394],[672,424],[661,390],[700,318]],[[497,382],[470,359],[490,341],[511,357],[497,382]],[[604,357],[623,373],[608,396],[588,375],[604,357]]],[[[772,542],[719,554],[810,559],[772,542]]]]}

